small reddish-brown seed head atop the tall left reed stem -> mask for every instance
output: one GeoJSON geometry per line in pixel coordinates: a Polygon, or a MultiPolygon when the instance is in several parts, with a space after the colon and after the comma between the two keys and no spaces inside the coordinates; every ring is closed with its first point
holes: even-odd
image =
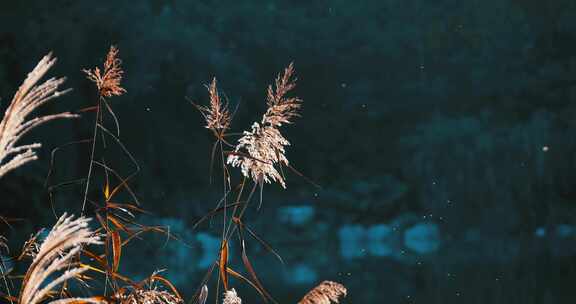
{"type": "Polygon", "coordinates": [[[96,84],[101,97],[120,96],[126,93],[126,90],[120,84],[124,71],[122,70],[122,60],[118,58],[118,53],[116,46],[110,46],[102,71],[99,67],[95,67],[93,70],[82,70],[86,73],[88,79],[96,84]]]}

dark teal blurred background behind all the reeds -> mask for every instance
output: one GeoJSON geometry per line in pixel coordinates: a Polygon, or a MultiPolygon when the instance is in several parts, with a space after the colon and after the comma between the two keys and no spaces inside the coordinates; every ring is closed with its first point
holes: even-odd
{"type": "MultiPolygon", "coordinates": [[[[94,86],[81,69],[119,47],[128,93],[112,104],[142,168],[133,187],[153,213],[139,221],[183,240],[144,237],[124,252],[122,271],[166,269],[189,298],[220,229],[192,225],[222,190],[209,183],[213,139],[185,97],[206,102],[216,76],[241,131],[293,61],[304,108],[285,128],[287,155],[322,188],[287,173],[288,189],[267,185],[247,218],[285,260],[249,243],[281,303],[324,279],[348,287],[345,303],[573,303],[574,16],[573,0],[2,1],[1,104],[53,51],[52,75],[74,92],[46,111],[90,106],[94,86]]],[[[12,248],[54,213],[79,212],[81,186],[50,204],[44,182],[51,149],[89,137],[92,120],[26,139],[44,142],[41,160],[0,184],[1,214],[22,219],[1,228],[12,248]]],[[[56,178],[85,175],[87,152],[62,152],[56,178]]],[[[117,162],[129,170],[121,154],[117,162]]],[[[232,263],[241,269],[238,253],[232,263]]]]}

